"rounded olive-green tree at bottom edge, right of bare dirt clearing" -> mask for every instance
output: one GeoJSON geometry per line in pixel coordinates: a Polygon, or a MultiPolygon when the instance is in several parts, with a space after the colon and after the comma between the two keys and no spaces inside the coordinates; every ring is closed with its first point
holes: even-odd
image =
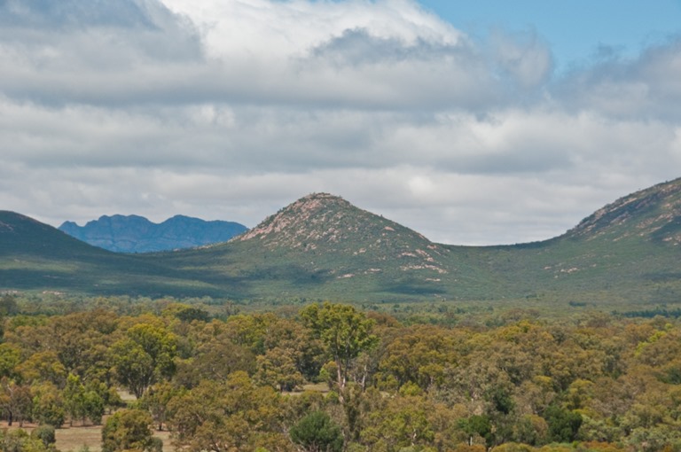
{"type": "Polygon", "coordinates": [[[152,417],[141,409],[121,409],[102,428],[102,452],[157,450],[149,425],[152,417]]]}

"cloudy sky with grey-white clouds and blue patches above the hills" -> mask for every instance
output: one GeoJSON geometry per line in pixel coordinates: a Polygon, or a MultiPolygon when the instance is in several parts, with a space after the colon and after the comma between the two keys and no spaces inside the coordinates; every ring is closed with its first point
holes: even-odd
{"type": "Polygon", "coordinates": [[[0,0],[0,209],[254,226],[328,191],[552,238],[681,176],[681,0],[0,0]]]}

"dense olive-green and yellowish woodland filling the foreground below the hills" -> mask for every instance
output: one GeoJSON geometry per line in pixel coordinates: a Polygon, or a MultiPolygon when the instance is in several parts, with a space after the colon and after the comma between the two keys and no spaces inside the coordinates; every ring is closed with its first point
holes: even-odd
{"type": "Polygon", "coordinates": [[[681,450],[675,316],[13,294],[0,313],[4,451],[67,425],[102,425],[105,452],[160,450],[158,430],[187,451],[681,450]]]}

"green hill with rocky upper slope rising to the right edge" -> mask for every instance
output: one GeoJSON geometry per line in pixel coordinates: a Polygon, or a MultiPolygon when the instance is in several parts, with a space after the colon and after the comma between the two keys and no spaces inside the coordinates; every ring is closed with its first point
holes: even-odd
{"type": "Polygon", "coordinates": [[[681,302],[681,179],[630,194],[558,238],[474,249],[505,292],[681,302]]]}

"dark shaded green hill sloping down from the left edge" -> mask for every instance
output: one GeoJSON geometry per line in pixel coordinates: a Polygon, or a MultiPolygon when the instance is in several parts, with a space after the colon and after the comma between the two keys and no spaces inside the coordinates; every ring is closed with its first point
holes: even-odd
{"type": "Polygon", "coordinates": [[[112,253],[25,215],[0,211],[0,292],[4,290],[149,296],[219,294],[159,261],[112,253]]]}

